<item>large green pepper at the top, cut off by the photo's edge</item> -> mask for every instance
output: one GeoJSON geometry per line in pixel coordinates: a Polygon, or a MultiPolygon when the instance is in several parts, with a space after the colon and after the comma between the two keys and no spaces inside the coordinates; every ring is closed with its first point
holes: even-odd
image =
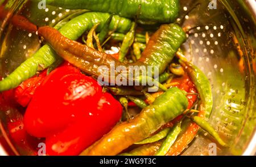
{"type": "Polygon", "coordinates": [[[83,8],[91,11],[109,12],[125,18],[135,18],[138,6],[141,5],[138,19],[159,23],[174,22],[179,15],[178,0],[46,0],[46,4],[69,9],[83,8]]]}

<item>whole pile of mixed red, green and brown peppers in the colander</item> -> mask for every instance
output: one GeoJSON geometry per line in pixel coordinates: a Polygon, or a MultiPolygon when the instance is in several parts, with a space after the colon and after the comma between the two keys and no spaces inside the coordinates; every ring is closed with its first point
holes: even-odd
{"type": "MultiPolygon", "coordinates": [[[[204,120],[213,105],[209,80],[177,52],[187,38],[183,29],[172,23],[179,1],[46,3],[92,12],[71,16],[69,22],[61,20],[55,28],[39,27],[38,35],[47,44],[0,81],[0,91],[15,88],[15,101],[26,108],[24,128],[45,140],[47,155],[179,155],[200,127],[226,146],[204,120]],[[119,7],[112,7],[116,5],[119,7]],[[139,24],[155,23],[169,24],[151,33],[138,30],[139,24]],[[116,42],[121,46],[119,52],[108,54],[106,48],[116,47],[116,42]],[[71,64],[61,65],[63,59],[71,64]],[[158,68],[160,76],[154,82],[159,91],[150,93],[148,86],[102,89],[94,79],[102,74],[98,67],[110,68],[112,62],[125,66],[128,74],[128,66],[158,68]],[[126,115],[122,119],[121,104],[126,115]],[[142,111],[131,117],[129,109],[134,106],[142,111]],[[123,153],[131,145],[138,147],[123,153]]],[[[24,24],[12,23],[26,29],[24,24]]]]}

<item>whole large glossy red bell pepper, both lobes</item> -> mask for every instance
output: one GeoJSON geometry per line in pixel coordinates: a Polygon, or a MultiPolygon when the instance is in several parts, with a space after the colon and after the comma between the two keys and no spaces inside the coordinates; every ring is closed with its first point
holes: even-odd
{"type": "Polygon", "coordinates": [[[110,131],[122,107],[91,77],[72,66],[53,70],[24,115],[29,134],[46,138],[48,155],[77,155],[110,131]]]}

